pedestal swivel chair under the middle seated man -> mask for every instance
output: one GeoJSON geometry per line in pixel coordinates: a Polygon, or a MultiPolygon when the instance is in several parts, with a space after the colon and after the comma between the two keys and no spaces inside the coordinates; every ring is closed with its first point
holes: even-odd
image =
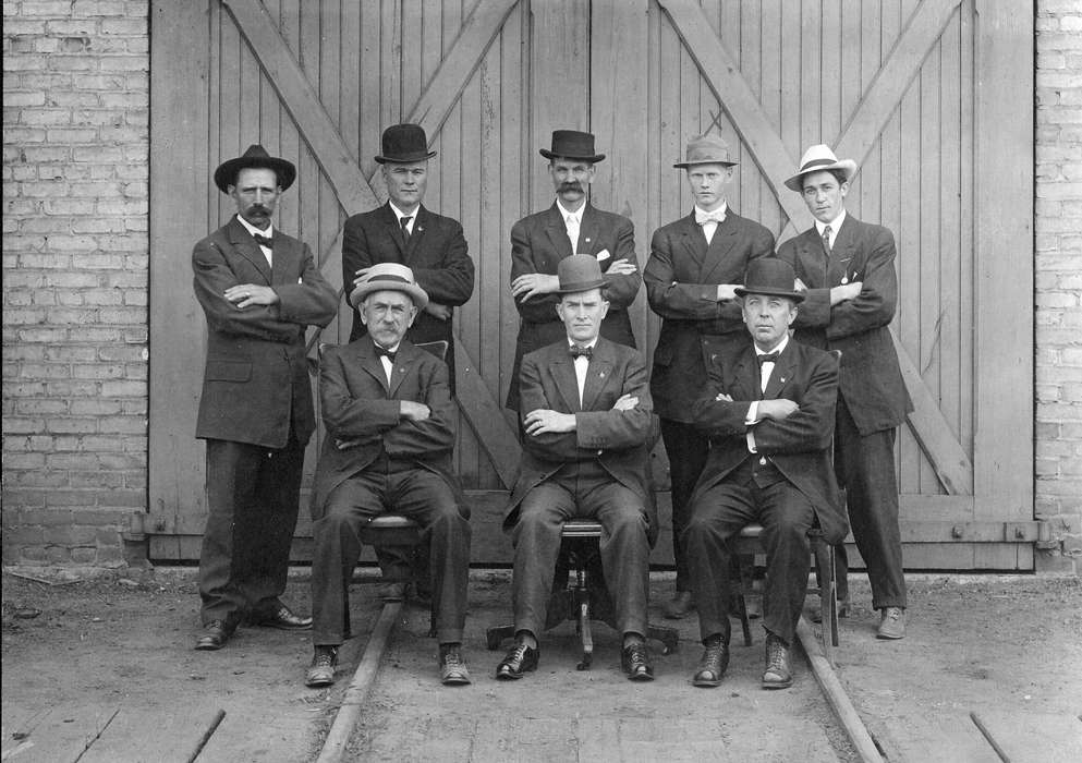
{"type": "MultiPolygon", "coordinates": [[[[556,565],[552,595],[548,603],[545,629],[555,628],[564,620],[575,623],[582,641],[582,661],[575,666],[588,670],[594,659],[593,620],[601,620],[616,628],[616,608],[601,572],[601,525],[589,520],[570,520],[560,532],[560,557],[556,565]],[[569,579],[569,572],[574,577],[569,579]]],[[[661,642],[661,653],[676,651],[680,635],[674,628],[646,626],[646,638],[661,642]]],[[[504,639],[514,637],[514,626],[494,626],[486,632],[488,649],[497,650],[504,639]]]]}

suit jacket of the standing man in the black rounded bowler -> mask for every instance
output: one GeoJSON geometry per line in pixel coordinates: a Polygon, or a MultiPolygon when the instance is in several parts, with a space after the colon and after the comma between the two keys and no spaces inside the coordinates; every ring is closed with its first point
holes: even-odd
{"type": "MultiPolygon", "coordinates": [[[[356,271],[377,263],[399,263],[413,270],[417,284],[428,299],[439,304],[458,307],[473,295],[474,266],[466,254],[466,240],[458,220],[428,211],[422,205],[413,221],[413,233],[406,243],[402,225],[390,204],[370,211],[353,215],[342,230],[342,283],[345,294],[352,291],[356,271]]],[[[361,323],[361,314],[353,310],[353,329],[350,341],[365,336],[368,330],[361,323]]],[[[405,334],[415,344],[446,341],[447,361],[451,370],[451,393],[454,393],[454,335],[452,320],[440,320],[425,312],[417,314],[413,326],[405,334]]]]}

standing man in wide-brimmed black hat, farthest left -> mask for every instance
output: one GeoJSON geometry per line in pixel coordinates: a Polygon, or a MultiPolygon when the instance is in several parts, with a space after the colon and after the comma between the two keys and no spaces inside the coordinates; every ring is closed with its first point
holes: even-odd
{"type": "Polygon", "coordinates": [[[263,146],[223,162],[215,184],[236,215],[195,245],[195,295],[207,316],[207,364],[195,436],[207,440],[207,525],[199,555],[203,633],[217,650],[236,627],[300,630],[282,604],[296,526],[304,446],[315,429],[306,326],[326,326],[337,298],[307,244],[275,230],[296,177],[263,146]]]}

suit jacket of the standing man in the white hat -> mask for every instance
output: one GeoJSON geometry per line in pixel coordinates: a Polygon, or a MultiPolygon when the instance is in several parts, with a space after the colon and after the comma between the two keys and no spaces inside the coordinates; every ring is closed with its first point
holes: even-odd
{"type": "Polygon", "coordinates": [[[838,393],[867,435],[892,429],[913,410],[888,326],[898,303],[895,237],[882,226],[846,215],[827,257],[813,226],[778,247],[807,286],[797,314],[795,337],[825,350],[841,350],[838,393]],[[862,281],[860,295],[830,306],[830,289],[862,281]]]}

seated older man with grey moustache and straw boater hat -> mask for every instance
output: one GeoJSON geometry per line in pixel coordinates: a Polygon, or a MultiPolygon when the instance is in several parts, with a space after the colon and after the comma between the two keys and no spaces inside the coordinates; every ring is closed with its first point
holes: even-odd
{"type": "Polygon", "coordinates": [[[367,334],[324,353],[327,426],[312,500],[312,643],[305,683],[335,680],[350,633],[349,585],[360,528],[380,513],[409,517],[430,542],[440,680],[469,683],[460,647],[470,567],[470,510],[451,472],[454,407],[447,364],[403,339],[428,302],[404,265],[372,266],[350,294],[367,334]]]}

